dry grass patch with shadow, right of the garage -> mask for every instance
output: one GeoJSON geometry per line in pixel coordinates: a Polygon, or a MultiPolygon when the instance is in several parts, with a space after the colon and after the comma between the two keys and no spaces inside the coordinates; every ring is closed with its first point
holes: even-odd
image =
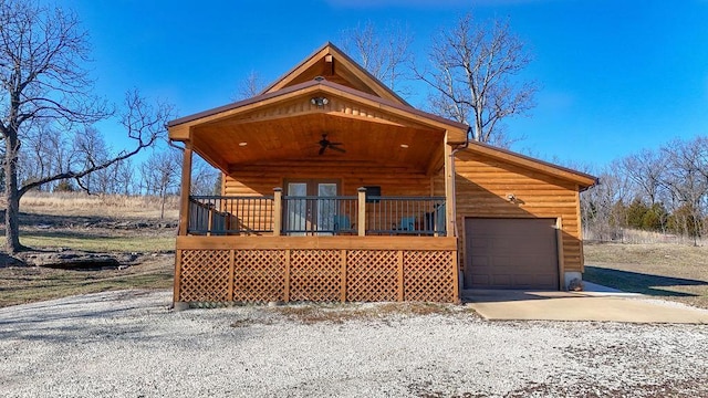
{"type": "Polygon", "coordinates": [[[585,280],[708,308],[708,247],[585,244],[585,280]]]}

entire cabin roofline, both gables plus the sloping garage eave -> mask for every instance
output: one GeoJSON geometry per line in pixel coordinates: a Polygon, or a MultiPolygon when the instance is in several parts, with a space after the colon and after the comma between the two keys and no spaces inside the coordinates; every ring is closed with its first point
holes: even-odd
{"type": "MultiPolygon", "coordinates": [[[[584,172],[488,144],[473,140],[468,143],[467,129],[469,127],[467,125],[414,108],[329,42],[258,96],[168,122],[169,138],[171,140],[189,140],[192,127],[217,126],[221,123],[228,124],[229,121],[250,118],[251,116],[248,116],[250,113],[267,112],[274,106],[292,106],[292,102],[300,104],[295,112],[278,113],[278,116],[267,116],[266,118],[277,121],[283,117],[293,117],[294,119],[305,114],[312,114],[327,115],[326,117],[346,117],[360,122],[367,121],[367,123],[377,122],[399,127],[408,126],[413,129],[447,130],[450,134],[449,144],[466,145],[466,148],[461,150],[573,181],[581,190],[597,182],[596,177],[584,172]],[[315,78],[317,76],[324,78],[315,78]],[[326,94],[330,98],[335,98],[336,103],[313,109],[309,104],[314,94],[326,94]],[[352,107],[348,105],[357,107],[356,116],[351,115],[352,107]]],[[[258,122],[257,118],[252,121],[258,122]]],[[[206,136],[202,135],[204,137],[206,136]]]]}

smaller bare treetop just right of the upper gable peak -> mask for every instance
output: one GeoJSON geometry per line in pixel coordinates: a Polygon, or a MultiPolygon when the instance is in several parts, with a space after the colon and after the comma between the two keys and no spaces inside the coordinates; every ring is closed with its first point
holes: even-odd
{"type": "Polygon", "coordinates": [[[404,65],[412,61],[409,48],[413,34],[407,28],[392,22],[377,31],[376,27],[367,21],[363,25],[345,30],[342,35],[342,49],[346,53],[354,54],[365,70],[391,90],[397,88],[402,94],[407,94],[407,88],[398,86],[405,75],[404,65]]]}

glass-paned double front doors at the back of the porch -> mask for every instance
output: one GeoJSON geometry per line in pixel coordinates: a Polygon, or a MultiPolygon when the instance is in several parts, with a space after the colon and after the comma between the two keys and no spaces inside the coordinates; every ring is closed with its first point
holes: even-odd
{"type": "Polygon", "coordinates": [[[291,235],[333,234],[339,184],[331,180],[291,180],[285,190],[285,232],[291,235]]]}

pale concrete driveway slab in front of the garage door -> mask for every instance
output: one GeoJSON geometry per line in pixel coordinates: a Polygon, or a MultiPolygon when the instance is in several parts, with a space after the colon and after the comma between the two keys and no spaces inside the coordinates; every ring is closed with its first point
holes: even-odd
{"type": "Polygon", "coordinates": [[[591,283],[584,292],[468,290],[462,301],[491,321],[708,324],[708,311],[591,283]]]}

